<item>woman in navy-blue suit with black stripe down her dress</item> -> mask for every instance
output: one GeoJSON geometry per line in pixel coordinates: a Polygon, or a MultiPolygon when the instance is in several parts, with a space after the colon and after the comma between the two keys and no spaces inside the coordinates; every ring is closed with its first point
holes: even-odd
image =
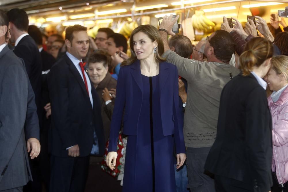
{"type": "Polygon", "coordinates": [[[164,46],[154,26],[134,29],[130,49],[131,58],[122,62],[118,76],[106,163],[115,168],[125,109],[123,133],[128,141],[123,191],[175,192],[174,144],[177,168],[186,159],[177,67],[161,57],[164,46]]]}

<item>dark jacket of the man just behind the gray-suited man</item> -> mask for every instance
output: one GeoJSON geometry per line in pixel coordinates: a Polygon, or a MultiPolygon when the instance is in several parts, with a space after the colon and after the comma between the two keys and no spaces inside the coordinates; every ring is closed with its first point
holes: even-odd
{"type": "MultiPolygon", "coordinates": [[[[32,89],[35,94],[35,102],[37,106],[37,115],[39,124],[41,125],[41,73],[42,73],[42,60],[39,49],[35,41],[30,35],[24,36],[13,52],[24,60],[27,74],[29,76],[32,89]]],[[[38,130],[39,132],[39,130],[38,130]]]]}

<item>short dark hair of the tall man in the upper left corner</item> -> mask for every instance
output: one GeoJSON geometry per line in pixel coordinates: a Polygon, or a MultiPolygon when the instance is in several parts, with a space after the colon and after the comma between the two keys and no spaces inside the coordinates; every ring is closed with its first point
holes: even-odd
{"type": "Polygon", "coordinates": [[[14,8],[7,12],[9,22],[13,23],[18,30],[28,31],[29,19],[23,9],[14,8]]]}

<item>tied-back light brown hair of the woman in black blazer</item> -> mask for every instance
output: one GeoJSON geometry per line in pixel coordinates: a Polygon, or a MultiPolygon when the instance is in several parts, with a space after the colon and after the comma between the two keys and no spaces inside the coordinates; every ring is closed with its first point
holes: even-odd
{"type": "Polygon", "coordinates": [[[251,39],[240,55],[240,68],[242,75],[250,75],[254,66],[259,67],[262,63],[273,56],[273,44],[262,37],[251,39]]]}

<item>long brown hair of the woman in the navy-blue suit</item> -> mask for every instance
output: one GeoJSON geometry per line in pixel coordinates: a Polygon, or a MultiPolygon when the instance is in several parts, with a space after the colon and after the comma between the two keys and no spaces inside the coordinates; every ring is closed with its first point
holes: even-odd
{"type": "Polygon", "coordinates": [[[135,28],[130,36],[130,51],[131,51],[131,57],[128,58],[127,60],[123,61],[121,66],[124,65],[130,65],[132,63],[134,63],[137,60],[137,56],[134,52],[134,45],[133,45],[133,36],[136,33],[145,33],[149,39],[151,39],[152,42],[156,41],[158,43],[157,47],[156,47],[156,53],[154,54],[155,56],[155,60],[158,62],[163,62],[165,61],[165,58],[163,58],[161,55],[164,53],[164,44],[162,42],[162,39],[160,37],[160,33],[159,31],[156,29],[156,27],[152,26],[152,25],[140,25],[137,28],[135,28]]]}

